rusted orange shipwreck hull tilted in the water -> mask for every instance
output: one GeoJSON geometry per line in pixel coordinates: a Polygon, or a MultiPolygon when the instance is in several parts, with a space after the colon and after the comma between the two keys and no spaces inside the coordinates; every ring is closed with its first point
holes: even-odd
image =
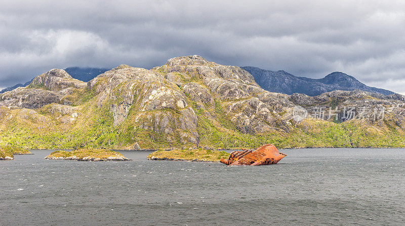
{"type": "Polygon", "coordinates": [[[234,166],[234,165],[269,165],[276,164],[287,155],[279,153],[273,144],[265,144],[259,148],[242,150],[240,152],[234,151],[230,154],[228,159],[221,159],[221,163],[234,166]]]}

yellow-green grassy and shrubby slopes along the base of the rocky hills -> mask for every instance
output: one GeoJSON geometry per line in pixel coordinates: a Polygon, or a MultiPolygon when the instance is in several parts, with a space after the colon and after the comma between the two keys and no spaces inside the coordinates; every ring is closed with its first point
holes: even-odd
{"type": "MultiPolygon", "coordinates": [[[[184,79],[204,85],[198,78],[184,79]]],[[[119,96],[119,88],[114,90],[119,96]]],[[[142,87],[138,87],[142,89],[142,87]]],[[[140,92],[142,93],[142,92],[140,92]]],[[[215,97],[215,96],[214,96],[215,97]]],[[[154,125],[156,111],[144,111],[143,118],[135,121],[139,101],[131,107],[128,118],[121,125],[113,127],[110,104],[119,101],[108,100],[101,108],[96,107],[97,97],[94,90],[77,91],[71,97],[73,105],[79,106],[80,117],[71,125],[58,121],[58,114],[50,114],[48,106],[36,110],[35,114],[25,114],[24,109],[0,107],[0,145],[13,144],[24,148],[72,148],[72,147],[107,147],[130,148],[135,142],[142,148],[189,147],[194,144],[181,144],[175,131],[173,143],[167,141],[167,134],[141,129],[137,125],[147,122],[154,125]],[[13,116],[13,117],[11,117],[13,116]],[[24,116],[24,117],[23,117],[24,116]],[[150,122],[147,116],[152,117],[150,122]]],[[[187,97],[188,98],[188,97],[187,97]]],[[[134,94],[135,100],[142,96],[134,94]]],[[[244,134],[239,132],[225,115],[222,102],[215,97],[215,106],[206,104],[203,110],[188,98],[198,118],[197,132],[200,146],[216,148],[254,148],[264,143],[273,143],[278,148],[286,147],[403,147],[404,131],[392,121],[382,125],[369,125],[359,121],[334,123],[327,121],[305,120],[290,133],[272,132],[267,134],[244,134]],[[207,117],[210,112],[214,119],[207,117]]],[[[179,117],[177,109],[165,109],[173,116],[179,117]]]]}

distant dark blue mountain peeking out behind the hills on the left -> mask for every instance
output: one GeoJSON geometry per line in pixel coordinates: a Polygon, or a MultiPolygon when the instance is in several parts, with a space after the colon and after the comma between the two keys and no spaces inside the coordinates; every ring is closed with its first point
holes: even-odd
{"type": "MultiPolygon", "coordinates": [[[[73,79],[77,79],[83,82],[89,82],[90,80],[94,79],[95,77],[97,77],[99,74],[104,73],[105,71],[107,71],[109,69],[107,68],[97,68],[97,67],[68,67],[65,69],[65,71],[70,74],[71,77],[73,77],[73,79]]],[[[15,86],[12,87],[7,87],[3,90],[0,91],[0,93],[4,93],[7,91],[11,91],[14,90],[18,87],[25,87],[28,86],[30,83],[32,82],[26,82],[24,84],[17,84],[15,86]]]]}

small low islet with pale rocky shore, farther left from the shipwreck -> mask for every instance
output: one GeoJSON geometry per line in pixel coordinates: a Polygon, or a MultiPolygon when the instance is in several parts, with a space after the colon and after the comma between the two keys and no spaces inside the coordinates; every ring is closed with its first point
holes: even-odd
{"type": "Polygon", "coordinates": [[[56,150],[45,159],[54,160],[77,160],[77,161],[128,161],[130,159],[124,157],[119,152],[114,152],[109,149],[78,149],[67,152],[65,150],[56,150]]]}

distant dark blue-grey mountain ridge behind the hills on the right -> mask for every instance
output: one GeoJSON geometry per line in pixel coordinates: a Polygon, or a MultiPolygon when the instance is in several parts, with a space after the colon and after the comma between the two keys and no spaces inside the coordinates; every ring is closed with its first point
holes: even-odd
{"type": "Polygon", "coordinates": [[[285,93],[289,95],[293,93],[303,93],[309,96],[317,96],[335,90],[362,90],[371,93],[381,93],[384,95],[394,94],[394,92],[389,90],[366,86],[354,77],[342,72],[330,73],[322,79],[310,79],[293,76],[293,74],[284,70],[263,70],[251,66],[242,68],[253,75],[255,81],[260,87],[270,92],[285,93]]]}

